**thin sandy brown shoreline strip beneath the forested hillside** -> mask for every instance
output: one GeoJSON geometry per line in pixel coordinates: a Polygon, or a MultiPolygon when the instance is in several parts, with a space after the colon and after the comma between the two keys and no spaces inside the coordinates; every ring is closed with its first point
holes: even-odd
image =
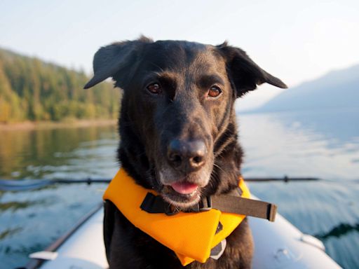
{"type": "Polygon", "coordinates": [[[39,129],[55,129],[55,128],[74,128],[74,127],[90,127],[90,126],[107,126],[116,125],[117,120],[114,119],[93,119],[93,120],[71,120],[71,121],[24,121],[22,123],[0,123],[1,131],[14,130],[39,130],[39,129]]]}

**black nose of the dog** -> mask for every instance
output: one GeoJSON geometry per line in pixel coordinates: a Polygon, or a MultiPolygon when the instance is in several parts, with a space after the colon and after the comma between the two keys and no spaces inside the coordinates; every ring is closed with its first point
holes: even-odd
{"type": "Polygon", "coordinates": [[[202,140],[174,139],[168,146],[168,162],[176,170],[194,172],[205,164],[207,147],[202,140]]]}

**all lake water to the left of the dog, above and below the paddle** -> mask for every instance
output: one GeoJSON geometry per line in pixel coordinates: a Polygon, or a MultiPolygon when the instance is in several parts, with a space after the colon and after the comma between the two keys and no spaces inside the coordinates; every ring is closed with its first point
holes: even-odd
{"type": "MultiPolygon", "coordinates": [[[[0,132],[0,178],[112,177],[116,127],[0,132]]],[[[15,268],[48,246],[101,202],[106,186],[55,185],[0,192],[0,268],[15,268]],[[3,267],[4,266],[4,267],[3,267]]]]}

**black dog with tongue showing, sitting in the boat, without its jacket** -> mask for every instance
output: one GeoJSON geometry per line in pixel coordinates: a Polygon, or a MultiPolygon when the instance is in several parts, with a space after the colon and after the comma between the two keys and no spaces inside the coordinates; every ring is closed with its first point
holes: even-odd
{"type": "MultiPolygon", "coordinates": [[[[286,88],[239,48],[187,41],[136,41],[100,48],[85,88],[112,77],[124,94],[118,160],[136,183],[180,209],[238,186],[243,151],[233,104],[257,85],[286,88]]],[[[243,221],[218,259],[187,268],[250,268],[252,235],[243,221]]],[[[183,268],[174,252],[105,204],[110,268],[183,268]]]]}

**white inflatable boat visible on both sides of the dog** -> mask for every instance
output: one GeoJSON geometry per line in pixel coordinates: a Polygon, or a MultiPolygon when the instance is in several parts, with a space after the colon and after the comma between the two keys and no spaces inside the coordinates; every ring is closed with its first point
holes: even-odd
{"type": "MultiPolygon", "coordinates": [[[[341,268],[325,254],[320,240],[301,233],[283,216],[274,223],[249,217],[255,240],[253,269],[341,268]]],[[[45,251],[30,254],[27,269],[108,268],[102,239],[103,208],[99,205],[45,251]]]]}

